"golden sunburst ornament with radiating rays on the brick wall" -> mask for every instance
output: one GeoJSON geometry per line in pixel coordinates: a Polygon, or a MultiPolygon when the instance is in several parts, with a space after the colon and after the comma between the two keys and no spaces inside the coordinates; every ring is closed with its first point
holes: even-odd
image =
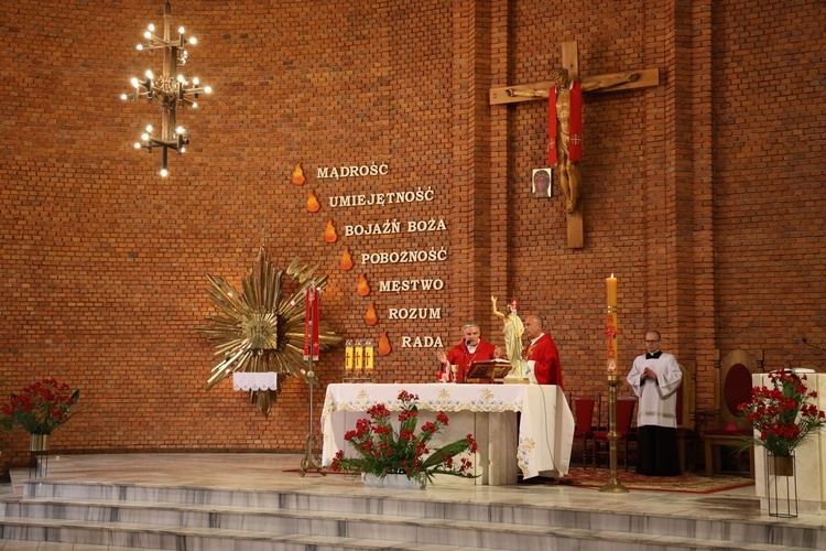
{"type": "MultiPolygon", "coordinates": [[[[207,274],[211,288],[207,294],[215,313],[207,316],[208,325],[195,331],[206,335],[216,348],[217,363],[211,368],[207,390],[236,372],[270,372],[279,377],[278,390],[250,390],[250,402],[264,415],[278,399],[282,382],[289,376],[300,377],[307,385],[318,386],[314,370],[307,369],[304,358],[304,306],[307,289],[324,291],[327,277],[314,277],[318,266],[298,266],[295,258],[286,269],[287,287],[282,289],[283,270],[278,270],[267,258],[262,246],[247,278],[243,292],[238,292],[222,278],[207,274]]],[[[341,342],[329,325],[320,322],[318,343],[322,350],[341,342]]]]}

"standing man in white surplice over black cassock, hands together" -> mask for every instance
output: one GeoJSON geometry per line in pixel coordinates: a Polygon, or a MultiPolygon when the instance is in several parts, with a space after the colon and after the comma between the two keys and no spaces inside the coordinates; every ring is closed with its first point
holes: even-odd
{"type": "Polygon", "coordinates": [[[637,409],[637,473],[680,474],[677,388],[683,382],[677,360],[660,349],[660,333],[645,333],[648,354],[638,356],[628,382],[640,399],[637,409]]]}

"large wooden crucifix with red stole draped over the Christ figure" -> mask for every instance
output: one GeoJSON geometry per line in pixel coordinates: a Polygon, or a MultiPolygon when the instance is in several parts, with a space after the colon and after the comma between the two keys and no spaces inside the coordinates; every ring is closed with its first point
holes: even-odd
{"type": "Polygon", "coordinates": [[[559,173],[568,219],[568,248],[582,249],[583,205],[579,201],[583,159],[583,93],[601,93],[645,88],[660,84],[656,68],[586,76],[579,79],[576,41],[562,43],[563,68],[551,74],[551,80],[501,86],[490,89],[490,105],[517,104],[548,99],[547,158],[559,173]]]}

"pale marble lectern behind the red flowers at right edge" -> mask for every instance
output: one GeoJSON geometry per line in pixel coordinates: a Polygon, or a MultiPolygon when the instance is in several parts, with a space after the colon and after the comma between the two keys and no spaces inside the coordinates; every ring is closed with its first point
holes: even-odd
{"type": "MultiPolygon", "coordinates": [[[[826,374],[797,371],[809,390],[817,391],[814,403],[819,410],[826,410],[826,374]]],[[[752,385],[756,387],[772,387],[769,374],[754,374],[751,376],[752,385]]],[[[759,433],[756,431],[754,436],[759,433]]],[[[818,514],[826,510],[826,473],[823,458],[826,457],[826,431],[809,433],[804,443],[795,449],[794,471],[796,475],[797,508],[800,512],[818,514]]],[[[769,508],[769,496],[767,495],[768,469],[765,465],[765,450],[754,450],[754,489],[760,498],[760,508],[769,508]]],[[[774,476],[772,476],[774,478],[774,476]]],[[[792,486],[792,488],[794,488],[792,486]]],[[[772,489],[772,496],[775,490],[772,489]]],[[[778,485],[776,495],[785,498],[786,488],[778,485]]],[[[794,490],[791,490],[794,496],[794,490]]]]}

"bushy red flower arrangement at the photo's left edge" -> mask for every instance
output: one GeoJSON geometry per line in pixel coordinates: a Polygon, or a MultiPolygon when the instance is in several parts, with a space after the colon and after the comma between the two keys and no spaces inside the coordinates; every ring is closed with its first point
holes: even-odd
{"type": "Polygon", "coordinates": [[[31,434],[52,434],[68,421],[77,410],[80,390],[72,389],[55,379],[43,379],[25,387],[0,408],[2,424],[7,429],[22,426],[31,434]]]}

